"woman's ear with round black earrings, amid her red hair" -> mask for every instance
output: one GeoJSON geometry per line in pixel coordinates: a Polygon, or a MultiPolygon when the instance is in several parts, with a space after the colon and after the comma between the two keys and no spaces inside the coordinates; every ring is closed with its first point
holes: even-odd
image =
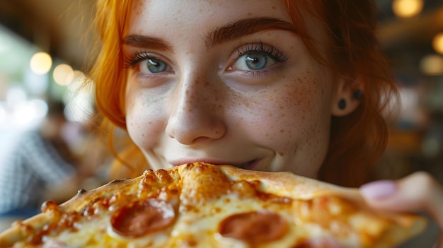
{"type": "Polygon", "coordinates": [[[340,78],[335,87],[332,98],[332,114],[335,117],[344,117],[354,112],[362,100],[362,83],[347,82],[345,78],[340,78]]]}

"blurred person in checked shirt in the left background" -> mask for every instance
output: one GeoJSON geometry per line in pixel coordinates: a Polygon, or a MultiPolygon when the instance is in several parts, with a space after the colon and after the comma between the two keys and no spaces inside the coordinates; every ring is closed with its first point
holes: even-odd
{"type": "Polygon", "coordinates": [[[11,220],[40,211],[47,199],[62,202],[91,175],[62,136],[67,119],[62,102],[50,102],[47,117],[36,129],[19,136],[0,163],[0,229],[11,220]]]}

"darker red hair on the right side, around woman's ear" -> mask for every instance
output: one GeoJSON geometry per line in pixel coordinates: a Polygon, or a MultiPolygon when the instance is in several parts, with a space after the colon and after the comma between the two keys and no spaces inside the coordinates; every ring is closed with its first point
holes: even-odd
{"type": "Polygon", "coordinates": [[[313,56],[348,78],[350,88],[362,88],[364,97],[355,112],[332,117],[328,155],[318,172],[318,179],[357,187],[372,179],[372,167],[386,148],[383,114],[398,94],[376,37],[376,6],[369,0],[286,0],[286,4],[313,56]],[[303,13],[323,24],[329,37],[328,57],[321,57],[314,47],[303,13]]]}

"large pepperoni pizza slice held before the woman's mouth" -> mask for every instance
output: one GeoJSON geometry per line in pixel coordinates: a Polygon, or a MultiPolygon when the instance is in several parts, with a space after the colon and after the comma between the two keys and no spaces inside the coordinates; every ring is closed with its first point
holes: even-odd
{"type": "Polygon", "coordinates": [[[381,213],[357,189],[289,172],[190,163],[146,170],[0,234],[0,247],[395,247],[425,218],[381,213]]]}

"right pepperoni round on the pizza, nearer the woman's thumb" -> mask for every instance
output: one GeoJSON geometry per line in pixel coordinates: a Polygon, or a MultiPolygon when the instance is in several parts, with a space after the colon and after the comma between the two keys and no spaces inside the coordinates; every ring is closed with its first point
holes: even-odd
{"type": "Polygon", "coordinates": [[[249,244],[278,240],[286,234],[287,222],[277,213],[253,211],[231,215],[219,224],[223,237],[232,237],[249,244]]]}

